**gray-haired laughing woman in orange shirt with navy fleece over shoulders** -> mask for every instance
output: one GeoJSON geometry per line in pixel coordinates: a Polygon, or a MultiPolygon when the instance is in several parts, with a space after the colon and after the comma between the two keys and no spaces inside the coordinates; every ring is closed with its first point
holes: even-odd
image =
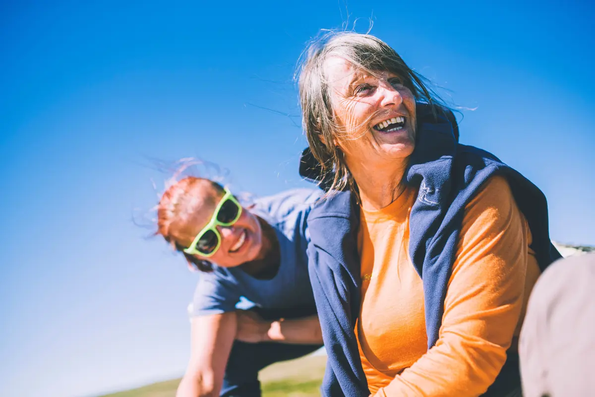
{"type": "Polygon", "coordinates": [[[525,305],[559,257],[543,194],[458,144],[452,114],[377,37],[330,34],[299,89],[302,174],[335,191],[308,216],[323,394],[518,395],[525,305]]]}

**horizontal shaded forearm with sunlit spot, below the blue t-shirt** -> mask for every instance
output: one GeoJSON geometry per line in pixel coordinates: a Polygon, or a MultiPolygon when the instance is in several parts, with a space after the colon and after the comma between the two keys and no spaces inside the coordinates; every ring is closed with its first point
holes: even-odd
{"type": "Polygon", "coordinates": [[[318,316],[291,320],[263,320],[252,311],[237,312],[237,336],[243,342],[279,342],[284,344],[322,344],[318,316]]]}

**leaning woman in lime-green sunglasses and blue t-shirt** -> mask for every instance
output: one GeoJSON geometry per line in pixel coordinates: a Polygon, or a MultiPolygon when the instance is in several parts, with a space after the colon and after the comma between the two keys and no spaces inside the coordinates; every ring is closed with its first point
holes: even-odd
{"type": "Polygon", "coordinates": [[[320,196],[292,190],[242,207],[227,188],[194,177],[165,191],[157,234],[201,271],[177,397],[259,396],[259,370],[321,347],[306,257],[306,217],[320,196]]]}

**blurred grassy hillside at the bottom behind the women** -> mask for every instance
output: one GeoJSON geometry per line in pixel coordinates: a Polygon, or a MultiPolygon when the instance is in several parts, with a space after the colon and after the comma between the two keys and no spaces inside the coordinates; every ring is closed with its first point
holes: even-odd
{"type": "MultiPolygon", "coordinates": [[[[312,397],[318,391],[324,374],[325,355],[308,355],[265,368],[260,373],[262,397],[312,397]]],[[[174,397],[180,379],[112,393],[101,397],[174,397]]]]}

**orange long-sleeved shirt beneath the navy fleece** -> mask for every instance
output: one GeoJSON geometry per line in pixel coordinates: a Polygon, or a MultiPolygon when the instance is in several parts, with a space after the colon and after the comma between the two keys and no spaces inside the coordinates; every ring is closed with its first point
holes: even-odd
{"type": "Polygon", "coordinates": [[[477,396],[494,382],[518,335],[540,270],[531,233],[508,182],[489,179],[465,207],[436,345],[427,349],[424,290],[409,257],[406,190],[361,210],[362,304],[356,326],[376,396],[477,396]]]}

